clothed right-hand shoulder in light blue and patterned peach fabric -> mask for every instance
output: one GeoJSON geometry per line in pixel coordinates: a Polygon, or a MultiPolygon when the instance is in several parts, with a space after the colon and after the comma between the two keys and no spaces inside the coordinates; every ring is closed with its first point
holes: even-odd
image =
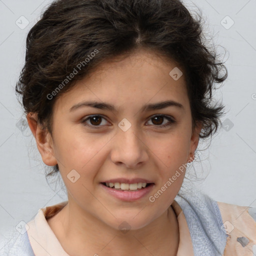
{"type": "Polygon", "coordinates": [[[256,255],[255,208],[215,201],[196,188],[180,192],[175,200],[185,215],[195,255],[256,255]]]}

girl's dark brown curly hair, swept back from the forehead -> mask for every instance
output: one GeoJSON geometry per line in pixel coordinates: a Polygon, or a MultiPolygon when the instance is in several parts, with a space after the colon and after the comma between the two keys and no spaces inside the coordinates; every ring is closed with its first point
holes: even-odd
{"type": "MultiPolygon", "coordinates": [[[[52,134],[57,97],[99,63],[143,48],[179,64],[193,125],[201,121],[200,138],[206,138],[223,114],[223,105],[212,104],[212,90],[226,79],[227,70],[203,38],[201,15],[193,17],[180,0],[55,0],[28,32],[16,94],[22,96],[24,112],[37,113],[52,134]],[[63,84],[74,69],[77,74],[63,84]]],[[[49,175],[57,171],[56,164],[49,175]]]]}

